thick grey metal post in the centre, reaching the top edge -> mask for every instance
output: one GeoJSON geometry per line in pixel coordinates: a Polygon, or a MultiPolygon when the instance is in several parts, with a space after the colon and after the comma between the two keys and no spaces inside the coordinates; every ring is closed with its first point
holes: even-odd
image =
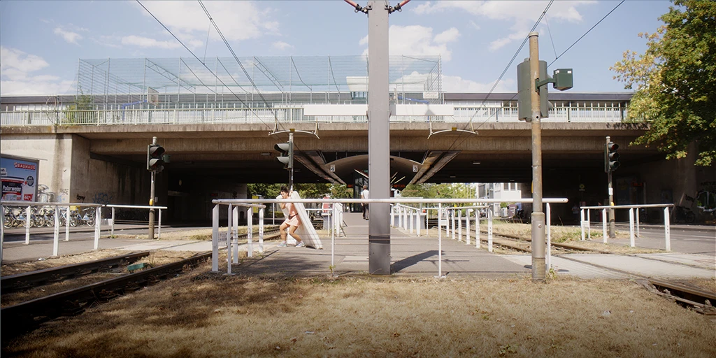
{"type": "MultiPolygon", "coordinates": [[[[390,198],[390,105],[388,103],[388,9],[368,3],[368,173],[372,198],[390,198]]],[[[368,271],[390,274],[388,204],[370,204],[368,271]]]]}

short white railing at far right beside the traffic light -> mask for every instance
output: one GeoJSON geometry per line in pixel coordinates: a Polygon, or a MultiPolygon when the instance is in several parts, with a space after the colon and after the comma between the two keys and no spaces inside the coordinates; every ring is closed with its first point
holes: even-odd
{"type": "Polygon", "coordinates": [[[639,236],[639,208],[664,208],[664,246],[666,251],[671,251],[671,229],[669,225],[669,208],[674,206],[674,204],[640,204],[640,205],[601,205],[601,206],[581,206],[580,211],[580,227],[581,227],[581,240],[585,239],[584,236],[584,228],[586,228],[586,238],[591,239],[591,218],[590,218],[590,211],[591,210],[599,210],[601,209],[601,230],[602,230],[602,236],[604,238],[602,239],[604,243],[607,243],[607,238],[609,237],[606,233],[606,211],[608,209],[629,209],[629,246],[634,247],[636,246],[636,240],[635,236],[639,236]],[[637,210],[634,210],[637,209],[637,210]],[[585,220],[585,210],[586,210],[586,220],[585,220]],[[634,212],[636,212],[636,232],[634,231],[634,212]]]}

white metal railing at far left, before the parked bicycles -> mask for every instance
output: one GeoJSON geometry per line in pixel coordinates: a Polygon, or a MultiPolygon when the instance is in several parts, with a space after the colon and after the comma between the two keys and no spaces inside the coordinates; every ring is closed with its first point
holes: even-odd
{"type": "MultiPolygon", "coordinates": [[[[161,216],[161,209],[166,209],[166,206],[141,206],[141,205],[104,205],[104,204],[89,204],[89,203],[39,203],[39,202],[28,202],[28,201],[11,201],[11,200],[2,200],[0,201],[0,211],[2,212],[2,226],[0,226],[0,262],[2,261],[2,246],[4,246],[5,243],[5,206],[20,206],[25,208],[25,244],[29,245],[30,243],[30,221],[32,216],[32,207],[44,207],[44,206],[54,206],[54,236],[53,236],[53,245],[52,245],[52,256],[57,256],[57,253],[59,251],[59,208],[60,207],[67,207],[67,210],[64,212],[65,214],[65,228],[64,228],[64,241],[69,241],[69,223],[70,223],[70,215],[71,211],[69,210],[70,206],[84,206],[88,208],[95,208],[95,250],[100,248],[100,233],[102,232],[102,208],[112,208],[112,235],[115,233],[115,226],[114,226],[114,209],[115,208],[158,208],[160,209],[159,214],[159,236],[161,235],[161,227],[162,227],[162,216],[161,216]]],[[[158,236],[158,237],[159,237],[158,236]]]]}

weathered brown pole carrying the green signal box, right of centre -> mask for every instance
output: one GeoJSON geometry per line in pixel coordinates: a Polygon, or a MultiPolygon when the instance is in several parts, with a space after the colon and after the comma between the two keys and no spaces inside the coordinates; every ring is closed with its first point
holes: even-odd
{"type": "Polygon", "coordinates": [[[539,89],[539,34],[530,32],[530,87],[532,100],[532,279],[544,281],[545,240],[544,213],[542,212],[542,127],[539,89]]]}

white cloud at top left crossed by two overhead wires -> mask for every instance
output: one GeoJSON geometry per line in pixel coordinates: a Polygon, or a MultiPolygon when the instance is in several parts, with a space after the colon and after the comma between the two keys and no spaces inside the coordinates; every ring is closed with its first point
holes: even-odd
{"type": "MultiPolygon", "coordinates": [[[[142,4],[173,32],[206,36],[211,22],[196,1],[145,1],[142,4]]],[[[264,34],[278,34],[279,23],[270,18],[271,9],[256,1],[203,1],[221,33],[229,41],[256,39],[264,34]]],[[[145,16],[150,16],[138,4],[145,16]]],[[[154,21],[152,19],[152,21],[154,21]]],[[[178,35],[185,41],[185,39],[178,35]]],[[[213,26],[210,38],[220,40],[213,26]]]]}

